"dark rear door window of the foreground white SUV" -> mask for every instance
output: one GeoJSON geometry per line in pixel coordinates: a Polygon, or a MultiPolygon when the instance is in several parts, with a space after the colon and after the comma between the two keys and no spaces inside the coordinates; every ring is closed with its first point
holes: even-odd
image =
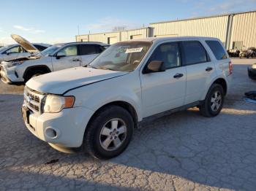
{"type": "Polygon", "coordinates": [[[182,42],[184,50],[185,65],[192,65],[195,63],[205,63],[210,61],[206,49],[198,41],[184,41],[182,42]]]}

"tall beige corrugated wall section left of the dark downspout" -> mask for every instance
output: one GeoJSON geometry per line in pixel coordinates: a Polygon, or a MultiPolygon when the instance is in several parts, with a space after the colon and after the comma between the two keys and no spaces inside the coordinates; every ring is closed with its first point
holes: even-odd
{"type": "Polygon", "coordinates": [[[228,16],[151,23],[154,36],[211,36],[226,41],[228,16]]]}

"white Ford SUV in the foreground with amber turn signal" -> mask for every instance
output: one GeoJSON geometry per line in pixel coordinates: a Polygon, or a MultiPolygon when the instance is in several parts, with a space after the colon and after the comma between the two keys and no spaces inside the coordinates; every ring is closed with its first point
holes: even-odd
{"type": "Polygon", "coordinates": [[[149,38],[118,42],[87,67],[26,83],[26,127],[52,147],[86,148],[97,158],[119,155],[141,122],[198,106],[219,114],[232,65],[219,39],[149,38]]]}

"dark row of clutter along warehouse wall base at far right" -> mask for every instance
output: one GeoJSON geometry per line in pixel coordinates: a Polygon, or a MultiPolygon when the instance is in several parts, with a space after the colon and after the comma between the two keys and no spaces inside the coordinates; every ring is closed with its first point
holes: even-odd
{"type": "Polygon", "coordinates": [[[247,50],[227,50],[231,58],[256,58],[256,48],[249,47],[247,50]]]}

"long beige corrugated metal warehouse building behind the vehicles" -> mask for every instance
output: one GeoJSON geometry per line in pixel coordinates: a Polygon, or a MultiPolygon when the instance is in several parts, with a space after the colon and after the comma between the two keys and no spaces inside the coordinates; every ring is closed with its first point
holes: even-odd
{"type": "Polygon", "coordinates": [[[256,47],[256,11],[151,23],[147,28],[80,35],[76,40],[113,44],[151,36],[211,36],[219,38],[227,49],[256,47]]]}

